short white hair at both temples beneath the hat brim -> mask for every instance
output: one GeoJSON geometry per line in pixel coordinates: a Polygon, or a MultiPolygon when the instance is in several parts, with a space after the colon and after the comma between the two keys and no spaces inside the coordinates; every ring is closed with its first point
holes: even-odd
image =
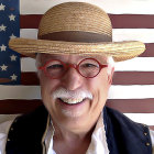
{"type": "MultiPolygon", "coordinates": [[[[112,68],[114,68],[114,61],[111,56],[108,57],[108,75],[111,75],[111,72],[112,72],[112,68]]],[[[36,68],[42,66],[41,64],[41,54],[37,54],[36,55],[36,61],[35,61],[35,66],[36,68]]],[[[41,70],[37,69],[37,77],[40,78],[40,74],[41,74],[41,70]]]]}

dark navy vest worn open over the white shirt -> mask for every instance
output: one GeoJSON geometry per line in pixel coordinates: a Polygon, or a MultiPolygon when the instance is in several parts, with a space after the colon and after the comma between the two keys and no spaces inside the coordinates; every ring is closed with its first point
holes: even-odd
{"type": "MultiPolygon", "coordinates": [[[[48,113],[42,106],[34,112],[21,116],[12,123],[7,154],[43,154],[42,143],[48,113]]],[[[103,122],[110,154],[152,154],[148,128],[128,119],[122,113],[103,108],[103,122]]],[[[101,154],[101,152],[100,152],[101,154]]]]}

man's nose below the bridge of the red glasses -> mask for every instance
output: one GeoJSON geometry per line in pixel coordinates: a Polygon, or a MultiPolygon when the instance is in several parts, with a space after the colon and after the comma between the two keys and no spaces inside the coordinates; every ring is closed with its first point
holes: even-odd
{"type": "Polygon", "coordinates": [[[68,90],[76,90],[82,84],[84,77],[75,69],[75,67],[69,67],[65,75],[63,76],[63,85],[68,90]]]}

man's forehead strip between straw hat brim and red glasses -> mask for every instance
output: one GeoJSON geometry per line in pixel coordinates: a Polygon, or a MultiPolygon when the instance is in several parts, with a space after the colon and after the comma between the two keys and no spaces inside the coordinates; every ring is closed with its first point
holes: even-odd
{"type": "Polygon", "coordinates": [[[59,59],[63,62],[77,63],[84,58],[96,58],[100,63],[107,63],[108,57],[106,55],[58,55],[58,54],[40,54],[40,61],[42,64],[51,59],[59,59]]]}

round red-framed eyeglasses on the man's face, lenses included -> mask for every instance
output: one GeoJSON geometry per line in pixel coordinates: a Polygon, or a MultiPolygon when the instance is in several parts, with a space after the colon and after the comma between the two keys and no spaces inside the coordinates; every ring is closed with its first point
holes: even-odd
{"type": "Polygon", "coordinates": [[[95,58],[85,58],[77,65],[66,64],[59,59],[51,59],[44,66],[38,67],[38,69],[43,70],[52,79],[62,78],[68,68],[75,68],[85,78],[94,78],[105,67],[108,67],[108,64],[101,65],[95,58]]]}

